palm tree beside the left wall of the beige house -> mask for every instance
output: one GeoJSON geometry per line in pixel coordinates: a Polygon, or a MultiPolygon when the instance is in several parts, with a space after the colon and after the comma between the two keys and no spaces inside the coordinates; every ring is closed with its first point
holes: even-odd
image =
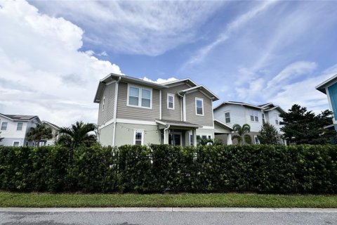
{"type": "Polygon", "coordinates": [[[79,146],[92,146],[93,143],[97,143],[95,134],[88,134],[91,131],[95,131],[96,125],[91,123],[84,123],[77,121],[72,124],[71,127],[61,127],[58,130],[60,136],[58,144],[62,146],[68,146],[70,148],[77,148],[79,146]]]}

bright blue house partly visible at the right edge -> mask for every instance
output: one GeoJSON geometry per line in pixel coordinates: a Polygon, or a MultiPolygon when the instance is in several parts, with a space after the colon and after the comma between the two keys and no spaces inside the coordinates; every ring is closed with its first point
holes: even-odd
{"type": "Polygon", "coordinates": [[[333,129],[334,127],[337,131],[337,75],[326,79],[326,81],[315,87],[318,91],[326,94],[329,101],[330,110],[333,112],[333,125],[326,128],[333,129]]]}

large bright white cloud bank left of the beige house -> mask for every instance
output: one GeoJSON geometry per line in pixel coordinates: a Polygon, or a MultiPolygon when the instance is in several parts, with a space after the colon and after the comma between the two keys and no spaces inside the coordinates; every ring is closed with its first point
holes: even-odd
{"type": "Polygon", "coordinates": [[[26,1],[1,1],[0,33],[1,113],[39,115],[61,126],[96,122],[98,81],[121,71],[93,51],[79,51],[80,27],[26,1]]]}

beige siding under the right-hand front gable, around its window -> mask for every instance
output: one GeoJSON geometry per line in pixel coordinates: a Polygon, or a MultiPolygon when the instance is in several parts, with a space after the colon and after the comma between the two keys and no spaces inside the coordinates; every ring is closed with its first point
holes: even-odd
{"type": "Polygon", "coordinates": [[[213,127],[213,106],[210,98],[200,91],[194,91],[186,95],[186,122],[192,122],[202,126],[213,127]],[[196,115],[195,98],[204,99],[204,115],[196,115]]]}

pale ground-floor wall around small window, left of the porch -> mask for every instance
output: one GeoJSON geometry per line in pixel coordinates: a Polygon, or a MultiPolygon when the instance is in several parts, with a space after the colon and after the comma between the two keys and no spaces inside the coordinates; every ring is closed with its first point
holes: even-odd
{"type": "Polygon", "coordinates": [[[160,131],[157,125],[144,124],[116,124],[115,146],[123,146],[126,144],[133,145],[134,129],[144,130],[144,145],[150,143],[160,143],[160,131]]]}

